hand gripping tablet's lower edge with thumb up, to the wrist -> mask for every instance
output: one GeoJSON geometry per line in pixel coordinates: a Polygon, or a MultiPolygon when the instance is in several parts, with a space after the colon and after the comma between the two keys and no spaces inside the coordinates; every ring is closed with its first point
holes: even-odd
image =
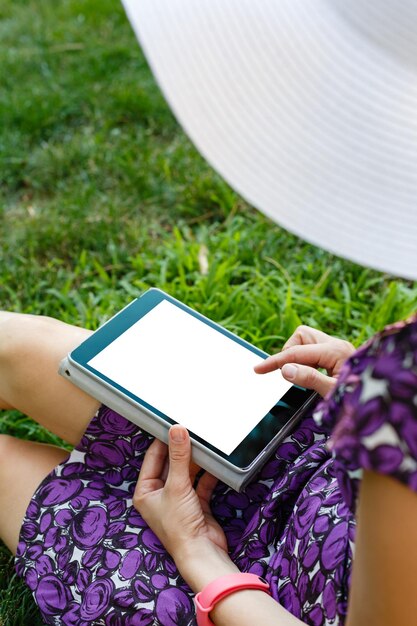
{"type": "Polygon", "coordinates": [[[177,424],[169,431],[169,450],[157,439],[149,447],[133,496],[134,507],[176,562],[193,545],[227,554],[226,537],[209,505],[217,480],[204,473],[195,490],[197,468],[190,465],[190,438],[177,424]]]}

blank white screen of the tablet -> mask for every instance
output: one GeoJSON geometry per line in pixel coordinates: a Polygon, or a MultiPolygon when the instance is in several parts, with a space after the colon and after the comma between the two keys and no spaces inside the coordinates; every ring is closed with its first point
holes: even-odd
{"type": "Polygon", "coordinates": [[[230,454],[290,389],[280,371],[163,300],[89,365],[230,454]]]}

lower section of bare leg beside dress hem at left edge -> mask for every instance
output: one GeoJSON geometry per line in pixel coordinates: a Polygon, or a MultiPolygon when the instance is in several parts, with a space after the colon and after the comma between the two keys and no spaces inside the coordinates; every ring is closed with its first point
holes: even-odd
{"type": "Polygon", "coordinates": [[[33,493],[67,456],[56,446],[0,435],[0,537],[13,554],[33,493]]]}

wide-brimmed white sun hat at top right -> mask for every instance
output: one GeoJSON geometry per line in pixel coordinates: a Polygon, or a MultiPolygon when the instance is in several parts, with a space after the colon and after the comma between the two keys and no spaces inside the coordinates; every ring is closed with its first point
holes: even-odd
{"type": "Polygon", "coordinates": [[[284,228],[417,279],[417,0],[123,0],[208,163],[284,228]]]}

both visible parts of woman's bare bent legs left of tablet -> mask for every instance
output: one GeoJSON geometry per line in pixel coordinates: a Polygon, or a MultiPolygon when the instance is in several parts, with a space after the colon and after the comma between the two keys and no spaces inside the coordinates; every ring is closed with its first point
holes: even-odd
{"type": "MultiPolygon", "coordinates": [[[[0,409],[17,409],[72,445],[99,403],[58,374],[90,334],[52,318],[0,311],[0,409]]],[[[56,446],[0,435],[0,537],[15,552],[30,499],[68,456],[56,446]]]]}

